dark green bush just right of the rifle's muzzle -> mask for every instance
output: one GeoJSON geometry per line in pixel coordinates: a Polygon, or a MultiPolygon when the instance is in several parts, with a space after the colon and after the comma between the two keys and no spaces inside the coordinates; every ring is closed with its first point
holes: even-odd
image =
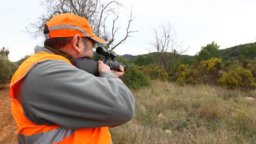
{"type": "Polygon", "coordinates": [[[126,85],[129,88],[138,89],[143,86],[150,85],[150,77],[144,75],[141,71],[137,70],[134,64],[131,64],[131,68],[126,71],[126,85]]]}

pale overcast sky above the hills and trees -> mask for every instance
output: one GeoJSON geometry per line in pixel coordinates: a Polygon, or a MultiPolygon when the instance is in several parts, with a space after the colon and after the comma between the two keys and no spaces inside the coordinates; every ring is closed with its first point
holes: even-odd
{"type": "MultiPolygon", "coordinates": [[[[131,23],[134,33],[114,51],[119,54],[147,54],[149,42],[154,40],[152,28],[161,23],[173,25],[177,41],[189,45],[186,54],[195,55],[212,41],[221,49],[235,45],[256,42],[256,1],[255,0],[121,0],[126,8],[120,9],[118,23],[122,28],[117,38],[122,39],[131,6],[136,19],[131,23]]],[[[43,13],[39,0],[1,1],[0,4],[0,46],[9,47],[9,58],[19,60],[25,54],[33,53],[34,40],[22,32],[33,20],[43,13]]]]}

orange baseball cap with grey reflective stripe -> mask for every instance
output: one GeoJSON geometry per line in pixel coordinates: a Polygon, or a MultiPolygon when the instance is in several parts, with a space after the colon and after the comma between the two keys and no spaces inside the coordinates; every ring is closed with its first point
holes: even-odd
{"type": "Polygon", "coordinates": [[[78,15],[65,13],[56,15],[45,24],[49,33],[45,34],[45,39],[70,38],[79,34],[81,37],[89,37],[96,42],[106,44],[105,40],[94,35],[93,30],[86,18],[78,15]]]}

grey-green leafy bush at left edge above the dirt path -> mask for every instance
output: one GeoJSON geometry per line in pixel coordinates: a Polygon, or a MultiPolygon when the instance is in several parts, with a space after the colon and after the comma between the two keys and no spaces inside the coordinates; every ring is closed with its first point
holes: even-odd
{"type": "Polygon", "coordinates": [[[2,55],[0,55],[0,67],[0,84],[7,83],[18,68],[15,63],[2,55]]]}

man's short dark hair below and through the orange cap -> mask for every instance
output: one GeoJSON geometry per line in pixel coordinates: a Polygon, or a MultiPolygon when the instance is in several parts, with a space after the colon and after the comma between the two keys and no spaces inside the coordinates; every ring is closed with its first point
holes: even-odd
{"type": "MultiPolygon", "coordinates": [[[[49,33],[49,29],[48,29],[48,26],[45,25],[44,34],[47,34],[47,33],[49,33]]],[[[86,45],[89,38],[88,37],[81,37],[81,38],[82,38],[83,44],[86,45]]],[[[73,38],[52,38],[52,39],[45,40],[44,45],[47,47],[51,47],[53,49],[61,49],[65,45],[72,42],[72,40],[73,38]]]]}

